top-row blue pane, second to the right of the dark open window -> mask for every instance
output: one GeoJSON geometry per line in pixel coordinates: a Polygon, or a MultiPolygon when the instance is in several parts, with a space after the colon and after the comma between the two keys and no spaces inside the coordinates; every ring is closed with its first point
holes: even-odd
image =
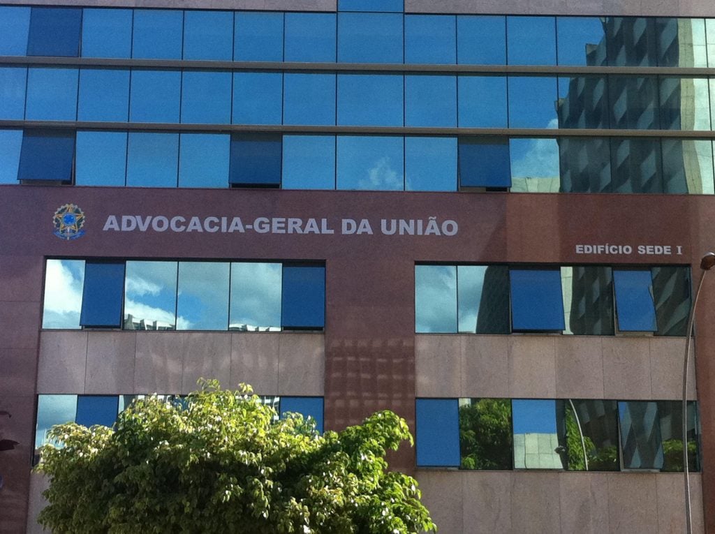
{"type": "Polygon", "coordinates": [[[184,11],[134,9],[132,57],[181,59],[184,11]]]}

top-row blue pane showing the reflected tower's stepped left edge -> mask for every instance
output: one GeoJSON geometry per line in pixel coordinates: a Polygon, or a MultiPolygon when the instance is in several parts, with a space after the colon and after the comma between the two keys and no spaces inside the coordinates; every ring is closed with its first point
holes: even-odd
{"type": "Polygon", "coordinates": [[[604,23],[597,16],[557,16],[556,42],[559,65],[606,64],[604,23]]]}

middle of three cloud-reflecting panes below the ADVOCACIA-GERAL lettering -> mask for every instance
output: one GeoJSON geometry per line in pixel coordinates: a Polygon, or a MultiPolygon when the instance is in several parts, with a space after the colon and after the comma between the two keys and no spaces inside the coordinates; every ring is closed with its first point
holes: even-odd
{"type": "Polygon", "coordinates": [[[230,263],[179,262],[177,330],[227,330],[229,277],[230,263]]]}

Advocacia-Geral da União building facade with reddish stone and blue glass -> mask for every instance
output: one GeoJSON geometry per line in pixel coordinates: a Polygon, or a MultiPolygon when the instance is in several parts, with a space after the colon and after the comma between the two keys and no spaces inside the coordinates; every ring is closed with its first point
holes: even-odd
{"type": "Polygon", "coordinates": [[[380,409],[444,533],[715,533],[715,8],[5,0],[0,533],[53,424],[380,409]],[[9,417],[11,415],[11,417],[9,417]]]}

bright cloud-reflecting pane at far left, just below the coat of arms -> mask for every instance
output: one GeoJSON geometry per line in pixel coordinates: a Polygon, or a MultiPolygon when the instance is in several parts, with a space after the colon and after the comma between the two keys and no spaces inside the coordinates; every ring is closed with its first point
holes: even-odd
{"type": "MultiPolygon", "coordinates": [[[[48,259],[45,265],[43,328],[79,328],[84,287],[83,259],[48,259]]],[[[72,416],[74,420],[74,415],[72,416]]]]}

